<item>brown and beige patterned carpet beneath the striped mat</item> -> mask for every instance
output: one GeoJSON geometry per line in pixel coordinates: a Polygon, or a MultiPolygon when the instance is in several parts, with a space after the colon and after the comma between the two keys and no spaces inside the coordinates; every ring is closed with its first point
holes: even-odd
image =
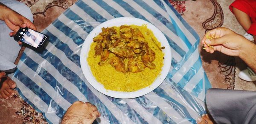
{"type": "MultiPolygon", "coordinates": [[[[38,31],[43,31],[76,0],[19,0],[31,8],[34,24],[38,31]]],[[[236,21],[228,6],[233,0],[188,0],[169,2],[183,18],[198,32],[202,38],[205,32],[217,28],[227,27],[243,34],[244,31],[236,21]],[[200,9],[198,9],[200,8],[200,9]]],[[[22,48],[23,50],[24,48],[22,48]]],[[[22,53],[22,50],[20,53],[22,53]]],[[[224,89],[256,90],[255,82],[245,82],[237,77],[237,73],[246,68],[239,58],[226,56],[216,52],[207,54],[201,51],[203,67],[212,87],[224,89]]],[[[18,62],[18,61],[17,61],[18,62]]],[[[16,63],[17,63],[16,62],[16,63]]],[[[0,99],[0,124],[44,124],[44,116],[36,112],[19,95],[12,99],[0,99]],[[8,118],[8,119],[6,119],[8,118]]]]}

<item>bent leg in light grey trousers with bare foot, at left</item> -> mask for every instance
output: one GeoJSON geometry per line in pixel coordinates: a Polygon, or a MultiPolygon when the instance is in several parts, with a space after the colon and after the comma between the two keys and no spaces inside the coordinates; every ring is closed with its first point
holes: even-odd
{"type": "MultiPolygon", "coordinates": [[[[1,3],[8,6],[17,13],[33,21],[33,15],[30,9],[23,3],[16,0],[0,0],[1,3]]],[[[15,59],[18,56],[21,46],[9,36],[12,32],[4,21],[0,20],[0,72],[11,72],[14,70],[15,59]]],[[[0,98],[8,99],[14,95],[14,89],[16,87],[15,82],[12,81],[8,76],[3,77],[0,83],[0,98]]]]}

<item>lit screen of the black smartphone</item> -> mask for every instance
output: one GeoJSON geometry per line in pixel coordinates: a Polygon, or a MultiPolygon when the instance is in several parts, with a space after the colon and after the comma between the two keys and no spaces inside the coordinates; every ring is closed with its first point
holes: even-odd
{"type": "MultiPolygon", "coordinates": [[[[21,33],[21,32],[20,32],[21,33]]],[[[23,35],[23,33],[21,33],[23,35]]],[[[33,47],[37,48],[42,39],[44,38],[44,34],[40,34],[36,31],[28,29],[24,36],[20,39],[21,42],[25,42],[26,44],[32,45],[33,47]]]]}

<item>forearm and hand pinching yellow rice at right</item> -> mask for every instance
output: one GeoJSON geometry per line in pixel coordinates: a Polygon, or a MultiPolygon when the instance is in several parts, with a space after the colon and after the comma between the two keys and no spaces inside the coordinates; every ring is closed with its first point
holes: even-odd
{"type": "Polygon", "coordinates": [[[234,31],[228,28],[213,29],[207,32],[201,44],[204,45],[205,51],[209,53],[220,51],[226,55],[239,56],[256,72],[256,45],[234,31]],[[207,37],[213,38],[207,39],[207,37]]]}

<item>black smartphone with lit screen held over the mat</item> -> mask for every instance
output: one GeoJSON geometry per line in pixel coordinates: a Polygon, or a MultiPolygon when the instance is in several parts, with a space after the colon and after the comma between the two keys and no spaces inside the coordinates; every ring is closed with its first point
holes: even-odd
{"type": "Polygon", "coordinates": [[[16,41],[24,42],[35,48],[40,48],[44,42],[49,39],[49,36],[38,31],[34,31],[30,28],[20,28],[19,31],[15,34],[14,39],[16,41]]]}

